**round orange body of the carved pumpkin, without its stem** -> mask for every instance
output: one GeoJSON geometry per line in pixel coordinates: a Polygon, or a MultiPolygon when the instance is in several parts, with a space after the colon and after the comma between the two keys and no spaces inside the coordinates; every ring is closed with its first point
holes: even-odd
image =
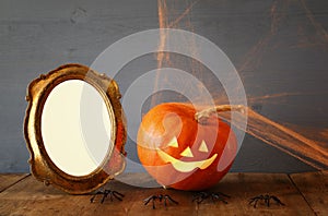
{"type": "Polygon", "coordinates": [[[191,105],[166,103],[152,108],[142,119],[137,137],[138,156],[162,185],[204,190],[216,184],[233,164],[237,141],[230,125],[216,117],[210,117],[204,124],[198,123],[195,113],[191,105]],[[177,143],[172,146],[174,137],[177,143]],[[187,148],[192,155],[183,154],[187,148]],[[194,165],[201,168],[192,168],[194,165]]]}

